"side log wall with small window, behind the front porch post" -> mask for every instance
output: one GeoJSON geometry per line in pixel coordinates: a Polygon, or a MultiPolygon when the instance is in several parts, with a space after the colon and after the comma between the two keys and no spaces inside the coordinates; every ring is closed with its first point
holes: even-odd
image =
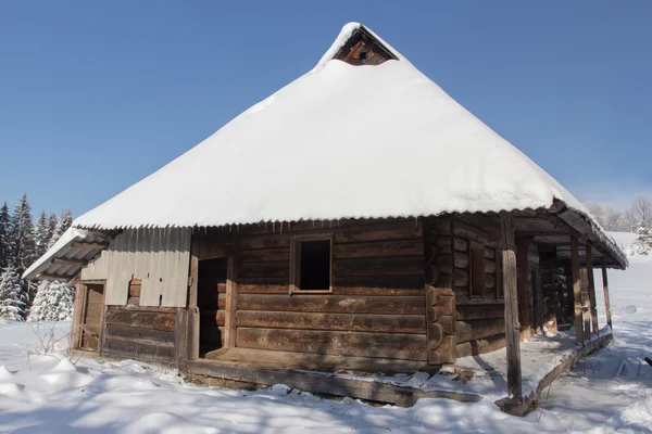
{"type": "MultiPolygon", "coordinates": [[[[429,233],[432,256],[439,273],[440,291],[451,291],[454,299],[452,332],[455,357],[492,352],[505,345],[504,302],[499,291],[498,243],[491,233],[496,226],[479,216],[438,217],[429,233]],[[485,247],[485,291],[473,294],[472,245],[485,247]]],[[[481,272],[481,271],[480,271],[481,272]]],[[[477,270],[475,278],[478,277],[477,270]]],[[[446,318],[446,323],[450,321],[446,318]]]]}

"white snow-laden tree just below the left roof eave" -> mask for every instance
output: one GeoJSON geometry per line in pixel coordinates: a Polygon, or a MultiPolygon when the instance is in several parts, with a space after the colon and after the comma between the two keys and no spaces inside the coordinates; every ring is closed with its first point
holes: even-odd
{"type": "Polygon", "coordinates": [[[62,321],[73,316],[75,291],[62,282],[41,281],[27,321],[62,321]]]}

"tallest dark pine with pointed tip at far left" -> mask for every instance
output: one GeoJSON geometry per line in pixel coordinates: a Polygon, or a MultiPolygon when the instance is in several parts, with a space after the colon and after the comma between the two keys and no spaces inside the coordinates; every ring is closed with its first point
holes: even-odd
{"type": "Polygon", "coordinates": [[[10,228],[11,265],[17,269],[18,273],[22,273],[37,259],[32,207],[25,194],[14,208],[10,228]]]}

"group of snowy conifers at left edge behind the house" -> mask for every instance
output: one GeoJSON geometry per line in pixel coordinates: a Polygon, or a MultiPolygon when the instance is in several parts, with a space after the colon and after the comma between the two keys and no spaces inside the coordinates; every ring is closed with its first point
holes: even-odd
{"type": "Polygon", "coordinates": [[[0,318],[15,321],[70,317],[74,293],[60,282],[27,281],[23,272],[71,227],[70,210],[42,212],[34,225],[32,206],[23,194],[10,212],[0,208],[0,318]]]}

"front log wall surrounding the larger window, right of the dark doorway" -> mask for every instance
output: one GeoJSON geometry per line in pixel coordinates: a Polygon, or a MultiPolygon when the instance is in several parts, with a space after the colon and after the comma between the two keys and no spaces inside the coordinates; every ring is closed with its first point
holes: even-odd
{"type": "MultiPolygon", "coordinates": [[[[421,219],[269,224],[238,239],[237,347],[427,360],[421,219]],[[306,233],[333,235],[331,293],[289,293],[290,243],[306,233]]],[[[217,290],[208,320],[223,327],[217,290]]]]}

